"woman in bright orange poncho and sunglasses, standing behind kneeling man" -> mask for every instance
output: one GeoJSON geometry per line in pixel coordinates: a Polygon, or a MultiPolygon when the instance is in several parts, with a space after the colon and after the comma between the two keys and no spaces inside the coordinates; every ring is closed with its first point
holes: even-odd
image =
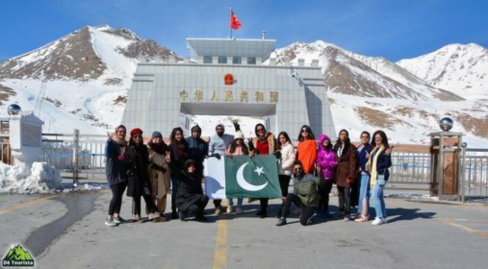
{"type": "Polygon", "coordinates": [[[303,164],[305,174],[315,172],[315,161],[317,160],[317,142],[314,133],[309,125],[303,125],[298,135],[296,146],[296,159],[303,164]]]}

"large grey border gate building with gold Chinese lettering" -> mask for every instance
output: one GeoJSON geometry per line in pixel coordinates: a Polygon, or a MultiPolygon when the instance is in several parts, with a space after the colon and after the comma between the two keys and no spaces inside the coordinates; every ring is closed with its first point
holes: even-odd
{"type": "Polygon", "coordinates": [[[277,65],[275,42],[189,38],[192,60],[139,63],[122,124],[164,135],[180,126],[188,135],[192,115],[259,116],[275,135],[296,138],[307,124],[317,136],[335,136],[318,60],[277,65]]]}

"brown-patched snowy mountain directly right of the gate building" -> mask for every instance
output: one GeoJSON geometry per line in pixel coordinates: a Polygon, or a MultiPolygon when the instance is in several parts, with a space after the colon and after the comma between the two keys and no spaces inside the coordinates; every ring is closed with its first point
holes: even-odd
{"type": "Polygon", "coordinates": [[[358,140],[362,130],[381,128],[394,142],[427,143],[444,116],[452,117],[453,131],[466,132],[471,143],[483,147],[488,139],[485,99],[465,100],[431,86],[386,58],[359,55],[323,41],[294,43],[271,57],[277,64],[319,59],[336,129],[348,129],[352,140],[358,140]]]}

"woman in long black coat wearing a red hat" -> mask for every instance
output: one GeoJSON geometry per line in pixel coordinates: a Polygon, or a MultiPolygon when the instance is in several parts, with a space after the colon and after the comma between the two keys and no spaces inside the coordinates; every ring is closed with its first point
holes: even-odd
{"type": "Polygon", "coordinates": [[[132,196],[132,219],[141,221],[141,196],[146,202],[149,212],[148,219],[155,222],[159,221],[158,208],[151,198],[149,188],[149,175],[147,166],[149,165],[149,152],[147,147],[142,143],[142,130],[139,128],[132,129],[129,145],[125,152],[124,160],[128,164],[128,186],[127,196],[132,196]]]}

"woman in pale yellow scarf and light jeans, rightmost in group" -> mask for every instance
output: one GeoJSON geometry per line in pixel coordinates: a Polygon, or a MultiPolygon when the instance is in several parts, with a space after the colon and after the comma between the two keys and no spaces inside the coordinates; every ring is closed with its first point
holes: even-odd
{"type": "Polygon", "coordinates": [[[388,168],[391,167],[391,148],[388,145],[386,134],[382,130],[375,131],[371,145],[373,150],[371,154],[366,155],[369,160],[365,169],[370,172],[370,184],[373,189],[371,196],[376,211],[376,218],[371,225],[379,225],[387,222],[383,189],[390,175],[388,168]]]}

